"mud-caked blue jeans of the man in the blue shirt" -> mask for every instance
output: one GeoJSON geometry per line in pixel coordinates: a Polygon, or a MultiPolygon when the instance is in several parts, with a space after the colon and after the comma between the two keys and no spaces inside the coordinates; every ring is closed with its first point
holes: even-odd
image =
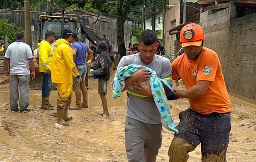
{"type": "Polygon", "coordinates": [[[86,68],[86,65],[76,66],[76,67],[82,78],[81,83],[78,83],[76,78],[74,78],[73,80],[73,88],[76,94],[76,106],[88,107],[88,92],[85,86],[87,68],[86,68]],[[83,96],[83,101],[81,100],[81,95],[83,96]]]}

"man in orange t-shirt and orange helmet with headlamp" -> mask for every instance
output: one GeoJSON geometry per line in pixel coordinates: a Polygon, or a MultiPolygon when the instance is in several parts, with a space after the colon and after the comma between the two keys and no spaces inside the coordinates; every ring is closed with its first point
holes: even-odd
{"type": "Polygon", "coordinates": [[[188,152],[201,143],[202,162],[226,162],[231,129],[231,103],[218,55],[203,47],[204,31],[196,23],[180,32],[184,53],[172,62],[172,78],[179,77],[187,90],[176,91],[188,98],[190,107],[179,114],[179,134],[174,135],[170,162],[187,162],[188,152]]]}

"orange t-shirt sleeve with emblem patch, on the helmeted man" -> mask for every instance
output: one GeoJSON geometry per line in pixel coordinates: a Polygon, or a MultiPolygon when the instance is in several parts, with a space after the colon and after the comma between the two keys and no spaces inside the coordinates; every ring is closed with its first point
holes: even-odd
{"type": "Polygon", "coordinates": [[[219,66],[219,59],[215,55],[206,55],[202,57],[196,81],[215,81],[216,72],[219,66]]]}

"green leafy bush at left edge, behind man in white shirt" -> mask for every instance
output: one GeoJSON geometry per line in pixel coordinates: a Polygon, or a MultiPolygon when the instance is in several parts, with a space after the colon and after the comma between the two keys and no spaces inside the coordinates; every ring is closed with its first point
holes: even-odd
{"type": "MultiPolygon", "coordinates": [[[[21,27],[18,27],[15,23],[12,24],[4,24],[0,27],[0,35],[3,38],[4,35],[8,36],[8,43],[12,43],[16,39],[16,33],[21,31],[21,27]]],[[[0,38],[0,40],[2,39],[0,38]]]]}

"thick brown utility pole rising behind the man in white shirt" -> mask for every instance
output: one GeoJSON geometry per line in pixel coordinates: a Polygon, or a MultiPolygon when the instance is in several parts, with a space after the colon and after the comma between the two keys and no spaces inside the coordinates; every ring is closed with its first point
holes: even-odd
{"type": "Polygon", "coordinates": [[[26,43],[27,43],[30,47],[32,47],[30,0],[24,0],[24,6],[25,6],[25,33],[26,33],[26,43]]]}

